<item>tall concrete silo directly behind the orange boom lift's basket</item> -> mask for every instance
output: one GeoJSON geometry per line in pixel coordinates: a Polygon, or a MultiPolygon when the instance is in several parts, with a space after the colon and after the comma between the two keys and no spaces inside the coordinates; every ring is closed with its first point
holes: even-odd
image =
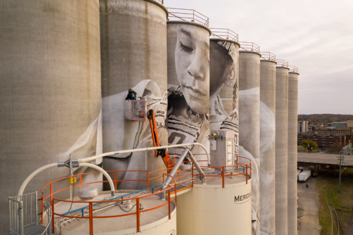
{"type": "MultiPolygon", "coordinates": [[[[160,144],[167,144],[166,18],[166,8],[152,0],[100,1],[104,152],[153,146],[149,122],[124,119],[129,88],[137,93],[136,97],[146,97],[147,110],[154,109],[156,114],[160,144]]],[[[164,167],[154,151],[103,159],[105,170],[157,171],[164,167]]],[[[118,174],[118,179],[145,178],[145,172],[118,174]]],[[[144,187],[146,184],[138,181],[118,183],[118,188],[123,189],[144,187]]]]}

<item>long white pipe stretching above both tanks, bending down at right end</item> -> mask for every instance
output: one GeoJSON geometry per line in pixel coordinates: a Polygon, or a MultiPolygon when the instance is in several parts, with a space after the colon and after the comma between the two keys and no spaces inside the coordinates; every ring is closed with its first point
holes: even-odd
{"type": "Polygon", "coordinates": [[[89,158],[84,158],[84,159],[78,159],[79,163],[83,162],[89,162],[92,160],[96,160],[99,158],[102,158],[103,156],[111,156],[111,155],[116,155],[116,154],[122,154],[122,153],[130,153],[130,152],[142,152],[142,151],[147,151],[147,150],[155,150],[155,149],[162,149],[162,148],[175,148],[175,147],[183,147],[183,146],[192,146],[192,145],[198,145],[203,150],[205,151],[207,155],[207,164],[208,166],[210,165],[210,159],[209,159],[209,154],[207,152],[207,149],[205,146],[203,146],[200,143],[187,143],[187,144],[174,144],[174,145],[165,145],[165,146],[158,146],[158,147],[147,147],[147,148],[136,148],[136,149],[128,149],[128,150],[120,150],[120,151],[114,151],[114,152],[105,152],[96,156],[90,156],[89,158]]]}

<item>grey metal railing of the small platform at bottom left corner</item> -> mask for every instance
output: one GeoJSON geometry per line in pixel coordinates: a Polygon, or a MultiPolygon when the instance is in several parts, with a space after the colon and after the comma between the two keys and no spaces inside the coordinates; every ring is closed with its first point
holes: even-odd
{"type": "Polygon", "coordinates": [[[37,191],[9,197],[10,234],[24,234],[24,228],[38,221],[37,191]]]}

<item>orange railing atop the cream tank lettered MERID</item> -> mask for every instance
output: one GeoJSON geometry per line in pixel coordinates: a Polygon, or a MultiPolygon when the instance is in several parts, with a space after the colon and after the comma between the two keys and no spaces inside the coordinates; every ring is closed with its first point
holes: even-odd
{"type": "MultiPolygon", "coordinates": [[[[194,155],[204,155],[204,154],[194,154],[194,155]]],[[[171,164],[175,164],[176,159],[178,159],[179,156],[172,156],[169,161],[171,164]]],[[[202,163],[202,162],[207,162],[207,161],[197,161],[198,163],[202,163]]],[[[212,161],[211,161],[212,162],[212,161]]],[[[183,163],[189,163],[189,161],[184,161],[183,163]]],[[[251,168],[251,160],[248,158],[245,158],[243,156],[236,156],[236,163],[234,165],[231,166],[200,166],[201,169],[205,172],[205,175],[202,177],[222,177],[222,187],[224,187],[225,185],[225,177],[233,177],[233,176],[238,176],[238,175],[245,175],[245,180],[246,180],[246,184],[248,183],[248,175],[250,174],[251,176],[251,172],[252,172],[252,168],[251,168]],[[244,164],[239,164],[239,159],[241,159],[242,161],[247,161],[244,164]]],[[[189,169],[185,169],[185,170],[180,170],[177,172],[178,177],[176,175],[174,175],[175,180],[177,180],[176,182],[178,183],[178,180],[181,180],[185,177],[191,176],[192,178],[194,177],[200,177],[201,175],[199,174],[194,174],[195,169],[194,169],[194,164],[191,163],[191,166],[189,169]],[[189,174],[182,174],[183,172],[191,172],[189,174]]],[[[194,185],[194,181],[191,182],[191,187],[193,187],[194,185]]]]}

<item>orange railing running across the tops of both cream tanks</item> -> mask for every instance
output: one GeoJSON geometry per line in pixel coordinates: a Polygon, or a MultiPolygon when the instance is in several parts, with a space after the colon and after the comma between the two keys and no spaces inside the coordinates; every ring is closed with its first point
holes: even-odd
{"type": "MultiPolygon", "coordinates": [[[[205,155],[205,154],[194,154],[194,155],[205,155]]],[[[168,166],[173,166],[175,164],[175,160],[178,158],[179,156],[172,156],[170,159],[168,159],[168,166]]],[[[197,161],[198,163],[200,163],[201,165],[204,163],[205,165],[207,165],[207,161],[197,161]]],[[[188,163],[188,161],[185,161],[184,163],[188,163]]],[[[245,175],[246,177],[246,183],[248,183],[248,175],[251,175],[252,169],[251,169],[251,160],[248,158],[244,158],[242,156],[236,156],[236,164],[232,165],[232,166],[200,166],[201,169],[205,172],[205,175],[200,175],[198,172],[195,172],[194,170],[194,164],[192,163],[190,168],[185,169],[185,170],[181,170],[179,169],[179,171],[177,171],[174,175],[174,177],[172,177],[173,179],[173,183],[169,184],[169,186],[164,189],[164,190],[158,190],[158,188],[161,185],[157,185],[157,186],[153,186],[150,187],[150,181],[152,180],[157,180],[157,179],[161,179],[161,180],[165,180],[165,176],[167,176],[168,174],[164,173],[164,172],[169,172],[172,168],[167,168],[167,169],[163,169],[163,170],[159,170],[159,171],[154,171],[154,172],[149,172],[149,171],[108,171],[111,173],[111,177],[114,174],[114,185],[115,188],[117,188],[117,184],[118,182],[122,182],[122,181],[142,181],[142,182],[146,182],[146,189],[143,190],[139,190],[137,192],[140,191],[146,191],[147,194],[144,194],[142,196],[139,197],[135,197],[135,198],[127,198],[127,199],[123,199],[122,196],[117,197],[114,200],[111,201],[71,201],[71,200],[61,200],[61,199],[56,199],[54,198],[54,195],[58,192],[61,192],[63,190],[67,190],[70,188],[70,186],[65,187],[65,188],[61,188],[58,190],[54,190],[54,183],[57,183],[59,181],[62,180],[67,180],[69,177],[64,177],[61,179],[57,179],[54,180],[50,183],[47,183],[46,185],[43,186],[42,188],[42,195],[41,195],[41,214],[42,214],[42,223],[43,223],[43,203],[46,199],[50,199],[51,202],[51,207],[52,207],[52,230],[54,232],[54,215],[56,216],[61,216],[64,218],[83,218],[83,219],[89,219],[89,231],[90,234],[93,234],[93,219],[94,218],[113,218],[113,217],[122,217],[122,216],[129,216],[129,215],[136,215],[136,231],[139,232],[140,231],[140,218],[139,218],[139,207],[137,205],[139,205],[139,200],[141,198],[145,198],[145,197],[150,197],[151,195],[156,195],[158,193],[161,192],[168,192],[168,200],[167,202],[155,207],[155,208],[150,208],[150,209],[144,209],[144,212],[147,211],[151,211],[151,210],[155,210],[158,209],[160,207],[163,207],[165,205],[168,204],[168,218],[170,219],[170,203],[175,199],[175,204],[177,203],[177,194],[175,192],[180,191],[180,190],[185,190],[187,188],[193,187],[194,185],[194,177],[222,177],[222,187],[225,186],[225,177],[226,176],[237,176],[237,175],[245,175]],[[239,158],[240,159],[244,159],[245,161],[247,160],[248,162],[244,163],[244,164],[239,164],[239,158]],[[145,179],[130,179],[130,180],[119,180],[118,179],[118,173],[119,172],[145,172],[146,173],[146,178],[145,179]],[[182,184],[183,182],[187,181],[191,179],[191,184],[189,186],[185,186],[182,189],[177,190],[177,185],[182,184]],[[49,193],[48,195],[44,195],[44,191],[48,190],[47,187],[49,186],[49,193]],[[172,189],[173,188],[173,189],[172,189]],[[172,189],[172,190],[171,190],[172,189]],[[172,192],[170,192],[172,191],[172,192]],[[174,193],[174,197],[171,198],[170,194],[174,193]],[[121,198],[121,199],[119,199],[121,198]],[[123,215],[112,215],[112,216],[93,216],[93,206],[95,206],[96,204],[103,204],[103,203],[119,203],[119,202],[123,202],[123,201],[127,201],[127,200],[135,200],[136,202],[136,212],[132,212],[132,213],[128,213],[128,214],[123,214],[123,215]],[[69,213],[72,213],[73,211],[64,213],[64,214],[59,214],[59,213],[55,213],[55,203],[54,202],[66,202],[66,203],[86,203],[88,204],[88,206],[84,207],[82,209],[82,216],[72,216],[72,215],[68,215],[69,213]],[[83,210],[88,209],[88,216],[84,216],[84,212],[83,210]]],[[[94,184],[94,183],[104,183],[104,182],[108,182],[108,180],[102,180],[102,181],[97,181],[97,182],[89,182],[89,183],[83,183],[82,182],[82,178],[84,175],[88,175],[88,174],[100,174],[100,172],[89,172],[89,173],[82,173],[82,174],[78,174],[78,175],[74,175],[73,177],[78,177],[78,184],[74,184],[72,185],[73,187],[81,187],[83,185],[87,185],[87,184],[94,184]]],[[[113,177],[112,177],[113,178],[113,177]]],[[[133,192],[136,193],[136,192],[133,192]]],[[[161,201],[164,202],[164,201],[161,201]]],[[[81,210],[80,209],[80,210],[81,210]]],[[[75,210],[76,211],[76,210],[75,210]]],[[[86,213],[86,214],[87,214],[86,213]]]]}

